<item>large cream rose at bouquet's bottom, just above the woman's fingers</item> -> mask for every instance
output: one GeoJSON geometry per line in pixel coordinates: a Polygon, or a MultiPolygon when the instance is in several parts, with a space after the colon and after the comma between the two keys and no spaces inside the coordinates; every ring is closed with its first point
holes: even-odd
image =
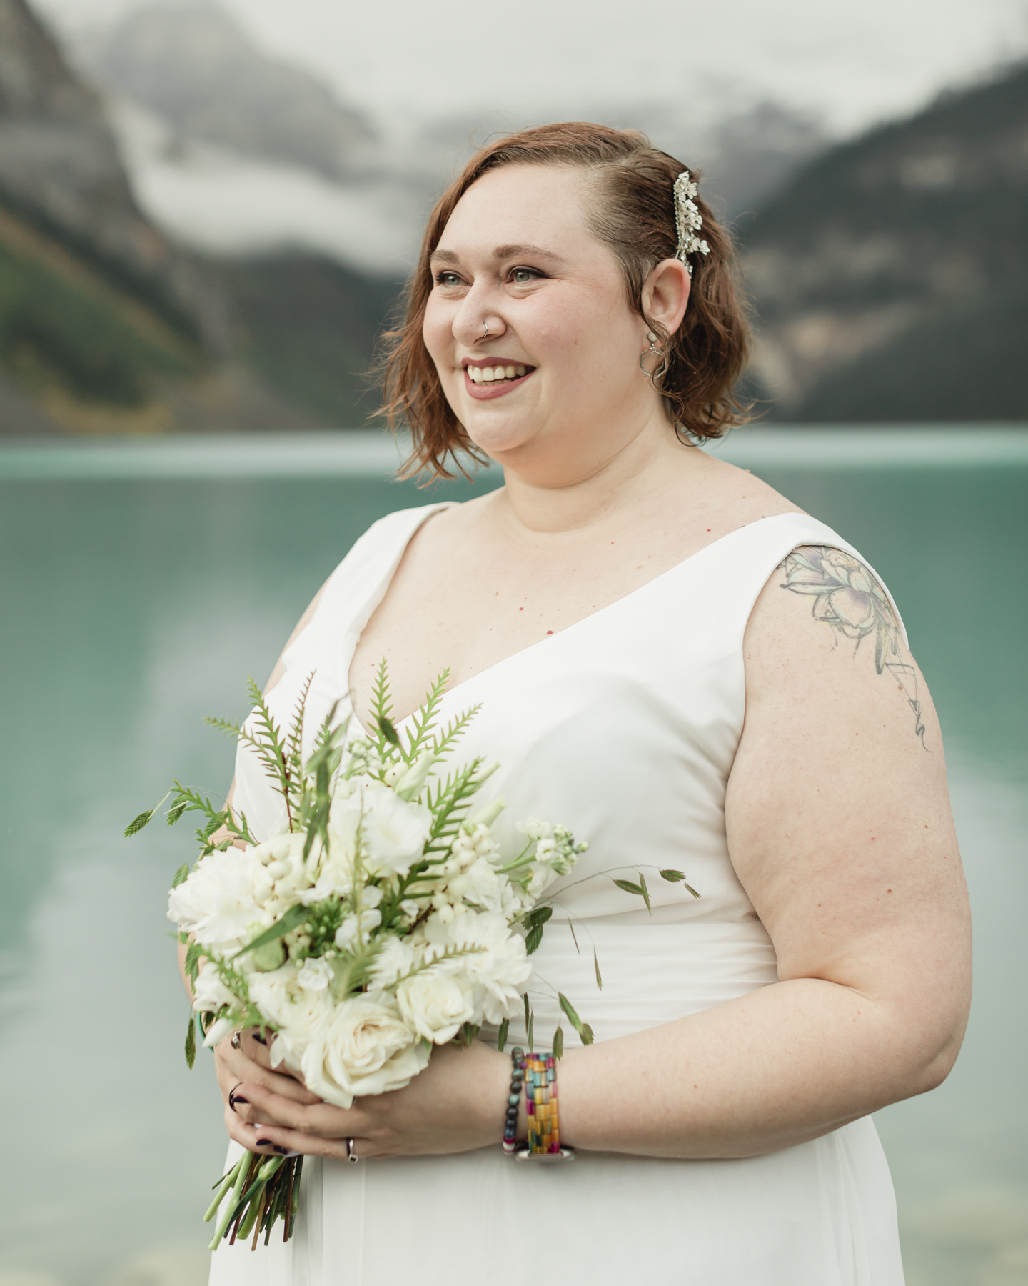
{"type": "Polygon", "coordinates": [[[337,1107],[357,1094],[401,1089],[428,1065],[430,1051],[386,993],[351,997],[310,1042],[301,1061],[307,1088],[337,1107]]]}

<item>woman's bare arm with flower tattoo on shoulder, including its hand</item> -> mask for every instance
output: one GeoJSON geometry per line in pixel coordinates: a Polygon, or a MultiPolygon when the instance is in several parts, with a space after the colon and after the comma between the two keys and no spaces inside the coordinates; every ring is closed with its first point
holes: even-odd
{"type": "MultiPolygon", "coordinates": [[[[577,1147],[771,1152],[932,1089],[953,1064],[970,934],[938,720],[888,604],[876,613],[860,588],[870,574],[847,567],[849,589],[819,592],[821,557],[802,556],[813,572],[786,559],[753,611],[726,805],[780,981],[568,1051],[562,1138],[577,1147]]],[[[483,1146],[500,1138],[509,1066],[484,1047],[437,1051],[407,1089],[348,1112],[254,1087],[243,1116],[279,1123],[261,1128],[270,1146],[332,1156],[346,1136],[365,1156],[483,1146]]],[[[247,1120],[230,1128],[257,1146],[247,1120]]]]}

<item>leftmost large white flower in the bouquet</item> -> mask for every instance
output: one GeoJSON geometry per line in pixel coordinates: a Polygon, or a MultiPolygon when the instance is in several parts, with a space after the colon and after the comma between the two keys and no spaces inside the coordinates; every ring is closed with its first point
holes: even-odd
{"type": "Polygon", "coordinates": [[[168,919],[193,934],[203,946],[242,944],[252,925],[260,923],[271,881],[252,849],[215,850],[202,858],[189,877],[168,895],[168,919]]]}

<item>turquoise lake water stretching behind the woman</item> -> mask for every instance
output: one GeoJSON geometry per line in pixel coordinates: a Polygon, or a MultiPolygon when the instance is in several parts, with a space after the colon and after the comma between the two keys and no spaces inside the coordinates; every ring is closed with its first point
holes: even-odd
{"type": "MultiPolygon", "coordinates": [[[[975,912],[956,1070],[879,1114],[908,1286],[1028,1283],[1028,431],[752,430],[720,454],[834,526],[932,687],[975,912]]],[[[366,436],[0,449],[0,1286],[199,1286],[224,1156],[166,890],[185,826],[121,840],[172,775],[224,792],[296,619],[419,493],[366,436]],[[3,835],[3,831],[0,831],[3,835]]],[[[497,1247],[500,1249],[500,1247],[497,1247]]],[[[702,1286],[702,1283],[698,1283],[702,1286]]]]}

